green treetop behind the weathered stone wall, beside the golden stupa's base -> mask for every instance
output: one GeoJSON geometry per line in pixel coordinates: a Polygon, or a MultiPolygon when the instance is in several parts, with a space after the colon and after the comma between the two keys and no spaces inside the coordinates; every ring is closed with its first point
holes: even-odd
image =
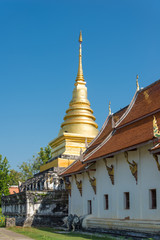
{"type": "Polygon", "coordinates": [[[22,181],[26,181],[28,178],[33,177],[34,174],[38,173],[40,166],[45,164],[51,158],[51,148],[49,146],[40,148],[37,156],[33,156],[32,160],[23,162],[19,169],[22,173],[22,181]]]}

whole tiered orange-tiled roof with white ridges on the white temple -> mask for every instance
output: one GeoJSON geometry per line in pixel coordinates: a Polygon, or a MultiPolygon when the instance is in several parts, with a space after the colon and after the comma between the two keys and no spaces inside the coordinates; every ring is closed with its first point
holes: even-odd
{"type": "Polygon", "coordinates": [[[152,142],[153,115],[160,123],[160,80],[137,91],[127,108],[108,116],[101,131],[84,152],[83,161],[76,161],[62,175],[78,173],[89,162],[152,142]],[[119,116],[117,121],[116,116],[119,116]]]}

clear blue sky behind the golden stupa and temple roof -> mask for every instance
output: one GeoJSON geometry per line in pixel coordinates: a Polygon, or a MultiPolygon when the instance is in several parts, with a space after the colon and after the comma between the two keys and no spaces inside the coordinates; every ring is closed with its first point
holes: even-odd
{"type": "MultiPolygon", "coordinates": [[[[160,78],[159,0],[1,0],[0,154],[12,168],[59,132],[83,72],[99,129],[160,78]]],[[[155,99],[156,101],[156,99],[155,99]]]]}

